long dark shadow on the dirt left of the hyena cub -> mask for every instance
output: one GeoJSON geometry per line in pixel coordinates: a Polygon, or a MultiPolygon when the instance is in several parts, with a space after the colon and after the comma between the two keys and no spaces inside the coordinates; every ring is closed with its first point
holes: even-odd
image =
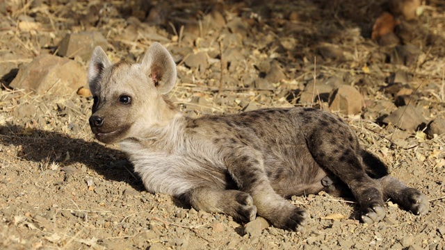
{"type": "Polygon", "coordinates": [[[17,151],[13,153],[23,160],[42,163],[42,166],[54,162],[61,169],[81,163],[104,176],[106,180],[124,181],[139,192],[145,190],[124,153],[97,142],[87,142],[64,133],[40,129],[31,133],[22,126],[6,125],[0,126],[0,144],[6,147],[15,146],[17,151]]]}

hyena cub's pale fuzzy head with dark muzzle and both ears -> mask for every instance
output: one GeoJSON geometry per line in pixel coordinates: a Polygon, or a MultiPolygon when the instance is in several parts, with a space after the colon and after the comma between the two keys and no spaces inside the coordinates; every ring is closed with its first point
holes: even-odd
{"type": "Polygon", "coordinates": [[[90,127],[97,140],[120,142],[141,133],[142,128],[162,123],[172,105],[166,94],[175,85],[172,56],[155,42],[141,63],[112,64],[96,47],[88,68],[88,84],[94,99],[90,127]]]}

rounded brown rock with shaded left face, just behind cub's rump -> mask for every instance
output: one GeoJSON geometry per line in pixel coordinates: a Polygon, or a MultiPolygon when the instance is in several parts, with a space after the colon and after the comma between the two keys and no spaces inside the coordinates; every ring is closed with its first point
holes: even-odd
{"type": "Polygon", "coordinates": [[[329,96],[329,108],[345,115],[357,115],[362,111],[362,94],[350,85],[341,85],[329,96]]]}

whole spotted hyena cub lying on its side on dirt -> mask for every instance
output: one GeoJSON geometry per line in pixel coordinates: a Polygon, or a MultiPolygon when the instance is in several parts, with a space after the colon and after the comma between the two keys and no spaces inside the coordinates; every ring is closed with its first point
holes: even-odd
{"type": "Polygon", "coordinates": [[[92,133],[119,142],[149,192],[241,222],[259,215],[296,231],[307,213],[286,198],[322,190],[352,194],[366,223],[385,217],[386,199],[415,215],[428,212],[426,196],[388,176],[336,115],[270,108],[193,119],[165,96],[175,81],[176,65],[159,43],[140,64],[112,64],[97,47],[88,69],[92,133]]]}

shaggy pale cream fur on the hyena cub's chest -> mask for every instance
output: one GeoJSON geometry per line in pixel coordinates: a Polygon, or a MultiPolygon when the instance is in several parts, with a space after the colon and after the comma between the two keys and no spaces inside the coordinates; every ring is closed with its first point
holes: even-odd
{"type": "Polygon", "coordinates": [[[210,140],[185,133],[185,125],[185,117],[178,116],[168,126],[145,131],[145,138],[120,142],[149,192],[179,196],[203,179],[226,184],[222,176],[227,169],[218,149],[210,140]]]}

